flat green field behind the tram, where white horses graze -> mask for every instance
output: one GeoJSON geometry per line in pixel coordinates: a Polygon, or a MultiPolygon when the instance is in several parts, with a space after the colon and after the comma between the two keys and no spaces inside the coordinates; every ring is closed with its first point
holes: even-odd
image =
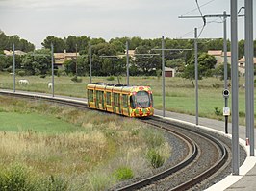
{"type": "MultiPolygon", "coordinates": [[[[19,79],[29,80],[29,85],[16,84],[16,89],[26,91],[38,91],[51,93],[48,89],[48,82],[51,82],[51,77],[39,78],[38,76],[16,77],[16,82],[19,79]]],[[[114,81],[108,81],[107,77],[92,77],[92,82],[105,82],[117,84],[117,78],[114,81]]],[[[86,85],[90,82],[89,77],[82,77],[82,83],[74,83],[71,77],[62,76],[55,77],[55,94],[87,97],[86,85]]],[[[120,82],[126,83],[126,77],[121,77],[120,82]]],[[[216,115],[217,109],[222,112],[224,107],[224,99],[222,97],[223,81],[218,78],[207,78],[200,80],[199,85],[199,116],[222,120],[223,116],[216,115]],[[215,86],[215,87],[214,87],[215,86]],[[218,88],[216,88],[218,86],[218,88]]],[[[230,82],[229,82],[230,83],[230,82]]],[[[162,109],[162,79],[157,77],[131,77],[130,84],[134,85],[150,85],[154,94],[154,107],[162,109]]],[[[244,77],[240,77],[239,88],[239,112],[240,124],[244,125],[245,113],[245,84],[244,77]]],[[[13,76],[5,73],[0,73],[0,88],[13,89],[13,76]]],[[[256,92],[254,92],[256,94],[256,92]]],[[[229,107],[231,106],[231,97],[229,98],[229,107]]],[[[181,112],[195,115],[195,91],[192,82],[179,77],[166,78],[166,110],[181,112]]],[[[229,117],[231,119],[231,117],[229,117]]]]}

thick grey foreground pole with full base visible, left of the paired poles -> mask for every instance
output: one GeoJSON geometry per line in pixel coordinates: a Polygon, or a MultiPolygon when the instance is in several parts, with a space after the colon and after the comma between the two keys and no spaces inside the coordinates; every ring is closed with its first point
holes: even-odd
{"type": "Polygon", "coordinates": [[[232,83],[232,174],[239,175],[239,107],[238,107],[238,1],[231,4],[231,83],[232,83]]]}

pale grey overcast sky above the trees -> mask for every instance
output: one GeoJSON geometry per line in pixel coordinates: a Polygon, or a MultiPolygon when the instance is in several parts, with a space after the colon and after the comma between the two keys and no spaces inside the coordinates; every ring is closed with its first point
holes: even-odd
{"type": "MultiPolygon", "coordinates": [[[[230,14],[230,0],[197,0],[203,15],[230,14]]],[[[238,0],[238,8],[244,0],[238,0]]],[[[253,1],[254,23],[256,2],[253,1]]],[[[244,10],[241,11],[241,14],[244,10]]],[[[203,27],[196,0],[0,0],[0,30],[18,35],[41,48],[47,36],[90,36],[109,41],[115,37],[192,38],[203,27]]],[[[238,37],[244,38],[243,17],[238,18],[238,37]]],[[[220,18],[208,18],[199,37],[223,36],[220,18]]],[[[230,19],[227,19],[230,38],[230,19]]],[[[255,29],[255,24],[254,24],[255,29]]],[[[253,37],[256,38],[256,30],[253,37]]]]}

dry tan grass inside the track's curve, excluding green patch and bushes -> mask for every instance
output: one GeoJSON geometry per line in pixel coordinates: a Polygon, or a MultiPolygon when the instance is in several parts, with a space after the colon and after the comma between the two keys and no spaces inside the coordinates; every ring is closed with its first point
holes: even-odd
{"type": "Polygon", "coordinates": [[[30,177],[40,179],[37,182],[60,179],[66,190],[102,190],[116,183],[113,173],[119,167],[128,167],[135,177],[152,171],[146,158],[151,148],[170,156],[164,134],[134,119],[39,101],[0,101],[0,112],[39,113],[75,125],[66,132],[56,127],[54,133],[36,127],[37,131],[0,131],[0,172],[18,163],[29,169],[30,177]]]}

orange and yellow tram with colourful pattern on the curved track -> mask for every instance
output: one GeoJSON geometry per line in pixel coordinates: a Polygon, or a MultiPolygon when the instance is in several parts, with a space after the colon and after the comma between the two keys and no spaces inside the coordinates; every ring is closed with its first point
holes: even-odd
{"type": "Polygon", "coordinates": [[[88,84],[88,106],[129,117],[154,114],[153,95],[149,86],[88,84]]]}

